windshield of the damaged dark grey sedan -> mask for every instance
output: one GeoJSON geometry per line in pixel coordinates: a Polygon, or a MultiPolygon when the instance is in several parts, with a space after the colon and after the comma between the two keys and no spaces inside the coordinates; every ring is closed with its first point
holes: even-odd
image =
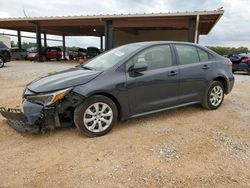
{"type": "Polygon", "coordinates": [[[83,67],[93,70],[107,70],[115,66],[117,63],[140,47],[141,45],[135,44],[120,46],[96,57],[95,59],[86,63],[83,67]]]}

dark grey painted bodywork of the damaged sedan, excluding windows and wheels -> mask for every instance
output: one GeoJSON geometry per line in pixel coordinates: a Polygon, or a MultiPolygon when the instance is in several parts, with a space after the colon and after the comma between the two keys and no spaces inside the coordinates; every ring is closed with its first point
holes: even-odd
{"type": "MultiPolygon", "coordinates": [[[[72,108],[74,109],[78,104],[84,104],[86,98],[93,95],[109,97],[117,106],[119,118],[128,119],[164,109],[201,103],[204,100],[208,85],[217,79],[226,81],[226,94],[233,88],[234,77],[231,67],[228,66],[228,59],[211,50],[183,42],[142,42],[134,45],[139,45],[137,50],[106,70],[86,70],[87,67],[84,69],[80,66],[51,73],[28,84],[24,96],[72,88],[62,100],[51,106],[54,120],[59,122],[57,119],[62,117],[68,109],[71,109],[70,113],[73,113],[72,108]],[[126,63],[136,54],[149,47],[163,44],[171,46],[172,66],[145,70],[138,74],[131,74],[127,70],[126,63]],[[175,44],[202,48],[213,58],[205,62],[180,65],[177,53],[173,50],[175,44]],[[208,68],[204,69],[204,66],[208,68]],[[171,75],[171,72],[177,72],[177,74],[171,75]],[[77,103],[74,102],[74,97],[77,98],[77,103]]],[[[97,58],[100,58],[100,56],[97,58]]],[[[30,113],[31,115],[28,113],[28,106],[30,106],[30,109],[34,106],[24,103],[25,115],[31,116],[32,113],[30,113]]],[[[41,110],[40,107],[36,106],[36,108],[37,111],[41,110]]],[[[47,107],[43,107],[40,112],[48,110],[47,107]]],[[[39,119],[41,118],[40,115],[36,117],[39,119]]],[[[51,113],[48,116],[51,116],[51,113]]],[[[33,116],[30,118],[32,121],[35,119],[33,116]]],[[[43,118],[46,119],[46,115],[43,118]]],[[[58,123],[56,124],[58,125],[58,123]]]]}

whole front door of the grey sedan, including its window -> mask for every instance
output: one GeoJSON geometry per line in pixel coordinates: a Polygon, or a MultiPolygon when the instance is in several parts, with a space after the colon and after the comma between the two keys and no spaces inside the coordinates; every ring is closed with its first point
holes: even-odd
{"type": "Polygon", "coordinates": [[[144,49],[127,62],[126,70],[131,115],[166,108],[178,101],[178,66],[170,45],[144,49]],[[130,71],[138,63],[145,63],[147,70],[130,71]]]}

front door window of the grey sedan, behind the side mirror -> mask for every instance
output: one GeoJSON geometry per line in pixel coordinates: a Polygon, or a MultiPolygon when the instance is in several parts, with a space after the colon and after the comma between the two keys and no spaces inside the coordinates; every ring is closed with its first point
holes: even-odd
{"type": "Polygon", "coordinates": [[[143,50],[127,62],[126,70],[129,70],[137,63],[147,64],[148,70],[155,70],[172,66],[170,46],[154,46],[143,50]]]}

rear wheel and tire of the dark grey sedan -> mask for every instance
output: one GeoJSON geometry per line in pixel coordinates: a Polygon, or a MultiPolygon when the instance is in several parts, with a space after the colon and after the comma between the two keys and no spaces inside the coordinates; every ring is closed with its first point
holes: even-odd
{"type": "Polygon", "coordinates": [[[224,100],[225,88],[219,81],[209,84],[202,106],[208,110],[216,110],[224,100]]]}

